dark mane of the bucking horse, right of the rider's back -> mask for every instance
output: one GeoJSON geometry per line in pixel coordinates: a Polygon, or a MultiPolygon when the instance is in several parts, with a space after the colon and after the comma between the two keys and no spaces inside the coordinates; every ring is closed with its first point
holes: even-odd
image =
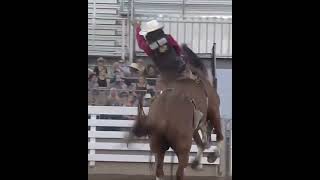
{"type": "Polygon", "coordinates": [[[208,77],[208,72],[203,61],[186,44],[182,44],[181,47],[182,53],[187,59],[187,62],[196,69],[201,70],[204,76],[208,77]]]}

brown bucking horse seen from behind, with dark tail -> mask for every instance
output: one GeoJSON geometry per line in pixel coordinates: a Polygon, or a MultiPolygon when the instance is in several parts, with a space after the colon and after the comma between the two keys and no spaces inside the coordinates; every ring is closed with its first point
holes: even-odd
{"type": "MultiPolygon", "coordinates": [[[[189,52],[185,52],[190,58],[189,52]]],[[[164,176],[164,155],[170,147],[177,154],[179,161],[177,180],[184,179],[192,138],[198,147],[192,167],[201,168],[201,158],[208,143],[206,136],[211,134],[211,131],[206,132],[207,120],[210,120],[215,128],[217,140],[223,140],[219,96],[210,84],[206,72],[199,66],[192,66],[192,59],[189,61],[190,68],[196,75],[196,80],[187,76],[181,78],[181,75],[174,71],[162,71],[160,82],[163,90],[152,102],[147,116],[142,109],[142,100],[139,100],[138,116],[132,134],[137,137],[150,137],[150,149],[156,155],[157,179],[164,176]]]]}

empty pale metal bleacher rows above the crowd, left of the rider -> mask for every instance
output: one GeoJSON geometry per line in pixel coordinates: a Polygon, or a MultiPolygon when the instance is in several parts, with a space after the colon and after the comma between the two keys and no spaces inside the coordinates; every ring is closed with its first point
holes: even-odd
{"type": "Polygon", "coordinates": [[[120,56],[127,50],[126,18],[117,0],[88,0],[88,55],[120,56]]]}

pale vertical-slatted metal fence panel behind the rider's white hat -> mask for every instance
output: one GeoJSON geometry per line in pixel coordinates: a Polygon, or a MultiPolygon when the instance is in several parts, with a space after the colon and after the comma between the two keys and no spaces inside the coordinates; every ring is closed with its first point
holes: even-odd
{"type": "MultiPolygon", "coordinates": [[[[142,23],[154,17],[136,17],[142,23]]],[[[164,31],[171,34],[179,43],[186,43],[200,57],[209,58],[212,44],[216,43],[216,56],[232,57],[232,20],[218,18],[156,18],[162,22],[164,31]]],[[[136,53],[143,54],[135,45],[136,53]]]]}

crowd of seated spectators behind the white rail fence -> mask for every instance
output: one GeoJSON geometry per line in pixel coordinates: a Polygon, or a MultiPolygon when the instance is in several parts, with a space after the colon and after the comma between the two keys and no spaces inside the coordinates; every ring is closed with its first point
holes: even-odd
{"type": "Polygon", "coordinates": [[[154,65],[145,65],[142,59],[127,64],[114,62],[110,68],[104,58],[98,58],[93,69],[88,69],[88,105],[137,106],[138,98],[149,106],[158,92],[158,72],[154,65]]]}

